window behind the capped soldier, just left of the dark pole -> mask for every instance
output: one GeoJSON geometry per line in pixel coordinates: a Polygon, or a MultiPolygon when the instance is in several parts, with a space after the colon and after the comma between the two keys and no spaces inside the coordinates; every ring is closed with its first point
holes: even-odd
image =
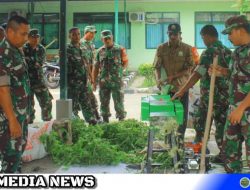
{"type": "Polygon", "coordinates": [[[41,43],[48,49],[59,48],[59,14],[58,13],[35,13],[29,17],[32,28],[37,28],[41,34],[41,43]]]}

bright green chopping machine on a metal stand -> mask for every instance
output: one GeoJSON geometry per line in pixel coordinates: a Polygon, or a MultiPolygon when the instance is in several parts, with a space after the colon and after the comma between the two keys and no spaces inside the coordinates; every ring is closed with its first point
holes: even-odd
{"type": "MultiPolygon", "coordinates": [[[[153,165],[153,152],[164,152],[167,150],[155,150],[153,148],[154,142],[154,126],[163,125],[164,121],[168,118],[174,118],[178,125],[182,125],[184,122],[184,109],[179,100],[171,100],[170,95],[167,95],[170,90],[169,85],[162,87],[161,95],[149,95],[141,98],[141,120],[150,123],[150,129],[148,133],[148,148],[147,148],[147,173],[152,172],[153,165]]],[[[177,146],[176,135],[171,133],[168,137],[171,141],[171,147],[177,146]]],[[[177,163],[177,155],[173,159],[174,163],[177,163]]]]}

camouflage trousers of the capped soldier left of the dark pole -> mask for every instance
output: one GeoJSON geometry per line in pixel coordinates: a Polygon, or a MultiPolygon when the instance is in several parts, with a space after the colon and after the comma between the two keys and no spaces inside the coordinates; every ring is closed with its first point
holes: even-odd
{"type": "Polygon", "coordinates": [[[50,94],[48,88],[45,85],[33,86],[31,87],[31,115],[30,115],[30,123],[33,123],[35,120],[35,99],[36,96],[39,105],[41,107],[41,115],[43,121],[50,121],[52,119],[52,99],[53,96],[50,94]]]}

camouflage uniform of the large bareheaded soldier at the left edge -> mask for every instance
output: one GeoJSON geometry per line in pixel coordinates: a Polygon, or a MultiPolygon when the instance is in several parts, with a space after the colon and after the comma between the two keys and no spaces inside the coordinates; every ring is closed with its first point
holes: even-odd
{"type": "Polygon", "coordinates": [[[20,169],[21,156],[28,136],[30,82],[22,52],[4,41],[0,46],[0,86],[9,86],[13,110],[22,127],[22,136],[11,139],[8,120],[0,108],[1,172],[14,173],[20,169]]]}

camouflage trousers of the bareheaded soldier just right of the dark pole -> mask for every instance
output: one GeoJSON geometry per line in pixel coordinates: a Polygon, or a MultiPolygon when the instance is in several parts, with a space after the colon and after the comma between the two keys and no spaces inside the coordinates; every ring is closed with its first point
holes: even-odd
{"type": "Polygon", "coordinates": [[[80,108],[80,110],[82,110],[82,115],[87,122],[96,120],[91,106],[88,89],[85,85],[71,86],[68,91],[68,97],[72,99],[74,114],[78,113],[78,109],[80,108]]]}

